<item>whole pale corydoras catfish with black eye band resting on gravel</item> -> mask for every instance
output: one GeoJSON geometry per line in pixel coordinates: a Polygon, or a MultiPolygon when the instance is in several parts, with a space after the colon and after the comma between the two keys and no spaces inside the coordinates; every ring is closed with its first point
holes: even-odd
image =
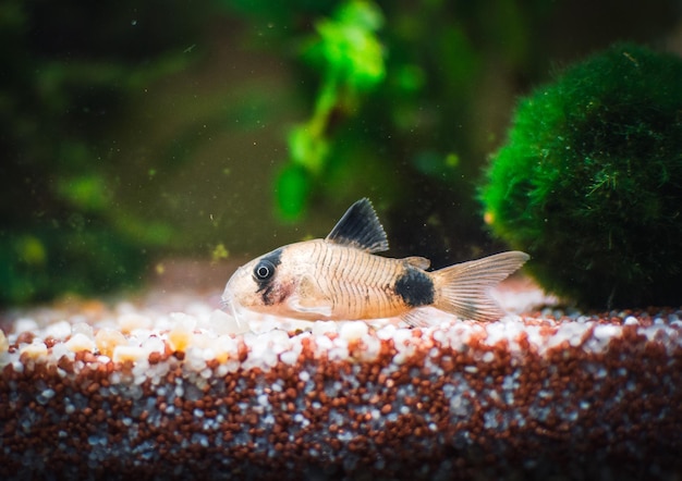
{"type": "Polygon", "coordinates": [[[429,271],[424,257],[377,255],[388,249],[372,202],[362,198],[327,237],[279,247],[238,268],[222,306],[238,321],[248,310],[310,321],[399,318],[426,326],[427,308],[436,308],[486,322],[506,314],[490,289],[529,259],[512,250],[429,271]]]}

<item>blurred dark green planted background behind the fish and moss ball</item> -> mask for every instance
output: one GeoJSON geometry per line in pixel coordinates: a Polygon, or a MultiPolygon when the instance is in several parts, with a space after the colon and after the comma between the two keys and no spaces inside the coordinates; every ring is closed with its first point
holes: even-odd
{"type": "Polygon", "coordinates": [[[485,254],[475,185],[513,96],[674,22],[625,3],[0,0],[0,304],[271,247],[363,196],[397,256],[485,254]]]}

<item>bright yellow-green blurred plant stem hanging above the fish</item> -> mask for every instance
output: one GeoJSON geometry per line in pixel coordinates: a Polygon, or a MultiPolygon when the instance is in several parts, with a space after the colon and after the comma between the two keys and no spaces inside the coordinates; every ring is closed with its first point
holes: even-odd
{"type": "Polygon", "coordinates": [[[277,182],[278,206],[287,219],[303,212],[313,180],[329,161],[333,119],[352,116],[360,98],[383,81],[383,48],[377,36],[382,23],[373,2],[351,0],[318,20],[315,35],[304,42],[302,57],[321,73],[321,84],[310,118],[288,136],[291,162],[277,182]]]}

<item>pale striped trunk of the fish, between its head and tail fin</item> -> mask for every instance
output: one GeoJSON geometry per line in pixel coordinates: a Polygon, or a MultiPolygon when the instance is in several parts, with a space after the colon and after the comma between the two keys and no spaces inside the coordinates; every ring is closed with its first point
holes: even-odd
{"type": "Polygon", "coordinates": [[[275,252],[280,282],[260,291],[263,305],[270,307],[264,311],[299,319],[377,319],[434,301],[429,274],[414,266],[421,258],[391,259],[325,239],[275,252]]]}

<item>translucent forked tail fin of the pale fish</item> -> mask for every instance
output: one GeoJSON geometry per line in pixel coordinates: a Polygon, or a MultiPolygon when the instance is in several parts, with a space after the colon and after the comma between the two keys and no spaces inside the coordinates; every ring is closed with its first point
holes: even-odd
{"type": "Polygon", "coordinates": [[[500,319],[504,311],[489,291],[529,258],[525,252],[512,250],[431,272],[436,288],[434,307],[462,319],[500,319]]]}

